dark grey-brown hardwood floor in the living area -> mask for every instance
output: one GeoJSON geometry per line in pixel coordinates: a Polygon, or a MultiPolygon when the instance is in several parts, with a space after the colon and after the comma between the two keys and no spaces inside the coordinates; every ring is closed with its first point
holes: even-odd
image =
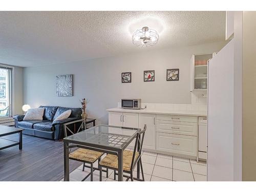
{"type": "MultiPolygon", "coordinates": [[[[70,172],[81,164],[70,160],[70,172]]],[[[0,181],[59,181],[63,174],[62,141],[23,135],[23,150],[17,145],[0,151],[0,181]]]]}

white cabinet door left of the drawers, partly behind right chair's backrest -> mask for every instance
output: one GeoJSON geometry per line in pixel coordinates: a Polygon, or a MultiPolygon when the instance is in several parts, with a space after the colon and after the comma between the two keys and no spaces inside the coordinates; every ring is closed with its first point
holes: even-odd
{"type": "Polygon", "coordinates": [[[156,115],[155,114],[139,114],[139,128],[143,129],[146,124],[146,132],[144,136],[143,149],[156,150],[156,115]]]}

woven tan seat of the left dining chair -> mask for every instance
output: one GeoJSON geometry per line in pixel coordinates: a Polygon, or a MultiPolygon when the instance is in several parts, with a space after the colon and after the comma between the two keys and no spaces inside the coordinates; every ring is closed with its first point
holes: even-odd
{"type": "Polygon", "coordinates": [[[94,162],[99,159],[101,155],[103,155],[101,152],[87,150],[85,148],[78,148],[78,150],[69,154],[69,158],[78,161],[94,162]]]}

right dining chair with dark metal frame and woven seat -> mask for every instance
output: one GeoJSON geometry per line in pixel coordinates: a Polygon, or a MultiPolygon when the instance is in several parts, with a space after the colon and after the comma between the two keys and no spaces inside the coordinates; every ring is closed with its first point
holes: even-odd
{"type": "MultiPolygon", "coordinates": [[[[123,177],[127,178],[126,181],[129,181],[129,179],[131,179],[131,181],[134,181],[134,180],[145,181],[142,162],[141,162],[141,149],[143,145],[145,131],[146,131],[146,124],[144,125],[144,129],[137,133],[134,150],[123,151],[123,172],[130,174],[130,176],[123,175],[123,177]],[[137,148],[138,148],[138,151],[137,151],[137,148]],[[133,172],[138,161],[140,161],[142,179],[133,177],[133,172]]],[[[118,170],[118,158],[116,155],[108,154],[99,162],[100,181],[102,181],[101,167],[114,169],[114,179],[116,180],[116,175],[118,175],[118,173],[116,172],[118,170]]]]}

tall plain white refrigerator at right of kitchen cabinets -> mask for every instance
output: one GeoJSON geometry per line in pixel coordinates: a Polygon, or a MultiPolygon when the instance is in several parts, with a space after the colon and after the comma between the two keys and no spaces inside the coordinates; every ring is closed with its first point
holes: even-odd
{"type": "Polygon", "coordinates": [[[208,65],[207,181],[233,181],[233,40],[208,65]]]}

